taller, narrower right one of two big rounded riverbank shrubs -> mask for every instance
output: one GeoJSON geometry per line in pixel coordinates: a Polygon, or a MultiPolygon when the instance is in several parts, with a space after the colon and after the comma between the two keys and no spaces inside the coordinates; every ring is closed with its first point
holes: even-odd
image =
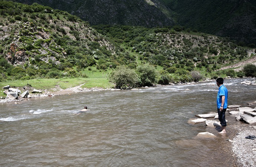
{"type": "Polygon", "coordinates": [[[137,67],[142,86],[152,86],[156,83],[157,71],[150,64],[143,64],[137,67]]]}

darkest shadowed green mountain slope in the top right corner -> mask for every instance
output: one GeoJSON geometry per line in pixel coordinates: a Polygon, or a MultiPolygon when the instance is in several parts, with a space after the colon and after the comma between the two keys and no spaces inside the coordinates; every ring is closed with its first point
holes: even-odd
{"type": "Polygon", "coordinates": [[[181,26],[256,44],[255,0],[163,1],[177,14],[176,21],[181,26]]]}

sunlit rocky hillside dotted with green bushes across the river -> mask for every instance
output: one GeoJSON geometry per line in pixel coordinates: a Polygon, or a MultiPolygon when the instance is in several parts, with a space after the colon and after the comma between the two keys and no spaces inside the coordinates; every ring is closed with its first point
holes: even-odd
{"type": "Polygon", "coordinates": [[[0,81],[87,77],[88,71],[149,63],[171,82],[187,82],[190,71],[215,78],[225,73],[216,70],[248,57],[247,49],[227,38],[179,26],[91,27],[66,11],[11,1],[0,1],[0,31],[0,81]]]}

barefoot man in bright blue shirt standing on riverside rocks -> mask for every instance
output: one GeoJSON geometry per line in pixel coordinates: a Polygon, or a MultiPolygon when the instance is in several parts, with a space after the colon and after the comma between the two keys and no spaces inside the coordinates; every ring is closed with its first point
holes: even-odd
{"type": "Polygon", "coordinates": [[[226,133],[226,118],[225,118],[225,113],[227,110],[227,88],[223,85],[224,79],[223,78],[218,78],[216,80],[217,86],[219,87],[219,91],[217,94],[217,110],[218,110],[218,115],[219,115],[219,121],[221,124],[221,129],[222,133],[226,133]]]}

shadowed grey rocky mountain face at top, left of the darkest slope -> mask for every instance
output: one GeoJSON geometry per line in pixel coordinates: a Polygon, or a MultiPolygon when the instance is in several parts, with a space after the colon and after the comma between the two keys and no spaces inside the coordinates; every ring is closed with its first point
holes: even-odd
{"type": "Polygon", "coordinates": [[[173,26],[168,10],[159,1],[151,0],[16,0],[39,3],[65,10],[90,24],[125,24],[132,26],[173,26]]]}

